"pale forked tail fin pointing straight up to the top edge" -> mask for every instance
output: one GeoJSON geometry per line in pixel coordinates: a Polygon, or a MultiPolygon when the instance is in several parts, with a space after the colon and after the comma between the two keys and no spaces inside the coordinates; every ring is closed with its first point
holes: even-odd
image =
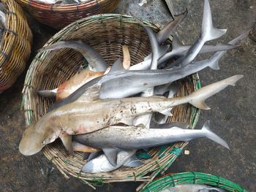
{"type": "Polygon", "coordinates": [[[205,0],[203,8],[203,24],[202,34],[205,41],[210,41],[222,37],[226,33],[226,29],[214,28],[211,18],[211,7],[208,0],[205,0]]]}

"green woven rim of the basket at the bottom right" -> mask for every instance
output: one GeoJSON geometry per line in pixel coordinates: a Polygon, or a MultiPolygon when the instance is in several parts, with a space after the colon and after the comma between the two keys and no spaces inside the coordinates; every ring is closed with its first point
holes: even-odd
{"type": "Polygon", "coordinates": [[[200,172],[184,172],[177,174],[169,174],[165,177],[162,177],[159,180],[155,180],[154,182],[150,183],[141,192],[158,192],[165,188],[185,184],[204,184],[211,185],[217,188],[222,188],[229,192],[248,192],[240,185],[233,183],[229,180],[226,180],[222,177],[200,172]]]}

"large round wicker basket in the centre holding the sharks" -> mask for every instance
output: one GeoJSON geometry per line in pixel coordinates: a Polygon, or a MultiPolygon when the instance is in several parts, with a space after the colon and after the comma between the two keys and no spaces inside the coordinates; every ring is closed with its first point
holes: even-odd
{"type": "MultiPolygon", "coordinates": [[[[153,28],[154,31],[159,30],[155,25],[146,22],[145,24],[153,28]]],[[[105,58],[108,64],[113,64],[113,61],[122,55],[121,45],[129,46],[132,64],[143,61],[143,58],[151,53],[148,36],[143,27],[133,18],[125,15],[95,15],[78,20],[59,31],[45,46],[69,39],[81,39],[88,43],[105,58]]],[[[71,49],[46,51],[36,55],[26,75],[23,88],[26,125],[38,120],[52,104],[49,99],[37,96],[37,91],[58,87],[61,82],[75,74],[80,65],[84,64],[86,62],[82,55],[71,49]]],[[[181,82],[178,96],[185,96],[200,87],[197,74],[191,75],[181,82]]],[[[169,121],[184,121],[194,128],[198,115],[199,110],[189,104],[184,104],[173,109],[173,117],[169,121]]],[[[43,149],[43,153],[53,164],[56,164],[65,177],[77,177],[84,183],[93,186],[124,181],[151,182],[157,174],[165,172],[186,145],[187,143],[178,142],[175,145],[155,147],[150,150],[149,155],[139,154],[143,157],[145,163],[143,166],[134,169],[121,168],[113,172],[98,174],[80,172],[86,163],[83,161],[82,153],[68,155],[61,142],[47,145],[43,149]]]]}

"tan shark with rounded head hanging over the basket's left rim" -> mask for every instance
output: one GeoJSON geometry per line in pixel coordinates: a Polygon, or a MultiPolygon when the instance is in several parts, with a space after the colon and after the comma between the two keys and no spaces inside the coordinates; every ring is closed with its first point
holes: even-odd
{"type": "Polygon", "coordinates": [[[118,123],[132,126],[134,118],[138,115],[162,112],[179,104],[189,103],[201,110],[209,110],[210,107],[206,105],[205,100],[222,91],[228,85],[234,86],[242,77],[243,75],[237,74],[206,85],[188,96],[171,99],[162,96],[105,99],[90,102],[78,99],[48,112],[37,122],[28,126],[20,140],[20,153],[34,155],[58,137],[61,138],[69,153],[72,153],[72,137],[74,138],[72,135],[90,133],[118,123]]]}

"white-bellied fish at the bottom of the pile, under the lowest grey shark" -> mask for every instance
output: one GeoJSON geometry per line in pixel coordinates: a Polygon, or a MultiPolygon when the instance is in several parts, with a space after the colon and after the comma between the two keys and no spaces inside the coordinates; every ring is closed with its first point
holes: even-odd
{"type": "Polygon", "coordinates": [[[83,168],[82,172],[86,173],[97,173],[97,172],[112,172],[115,169],[118,169],[120,166],[140,166],[142,163],[133,155],[135,154],[136,150],[119,150],[117,153],[117,162],[116,166],[113,166],[109,163],[108,158],[106,155],[102,154],[99,155],[97,158],[92,159],[88,163],[86,163],[83,168]],[[136,161],[137,163],[133,163],[131,161],[136,161]]]}

